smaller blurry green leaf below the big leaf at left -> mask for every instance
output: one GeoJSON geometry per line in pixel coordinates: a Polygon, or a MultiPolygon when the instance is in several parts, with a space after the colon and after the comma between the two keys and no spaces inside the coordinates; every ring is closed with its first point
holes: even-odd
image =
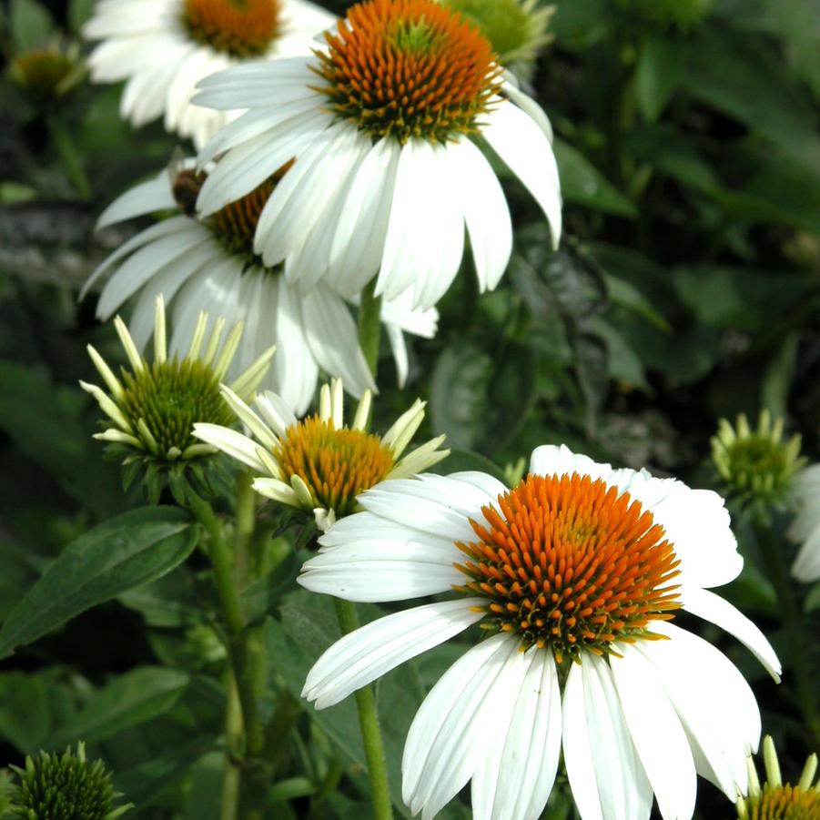
{"type": "Polygon", "coordinates": [[[162,666],[138,666],[94,693],[70,725],[53,734],[49,748],[84,740],[98,743],[165,714],[185,692],[184,672],[162,666]]]}

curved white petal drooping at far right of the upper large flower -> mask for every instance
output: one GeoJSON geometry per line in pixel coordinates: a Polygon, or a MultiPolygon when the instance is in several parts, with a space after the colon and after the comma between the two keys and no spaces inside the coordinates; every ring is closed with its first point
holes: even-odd
{"type": "Polygon", "coordinates": [[[561,185],[550,140],[531,116],[503,100],[486,115],[481,136],[521,179],[541,206],[552,230],[552,244],[561,239],[561,185]]]}

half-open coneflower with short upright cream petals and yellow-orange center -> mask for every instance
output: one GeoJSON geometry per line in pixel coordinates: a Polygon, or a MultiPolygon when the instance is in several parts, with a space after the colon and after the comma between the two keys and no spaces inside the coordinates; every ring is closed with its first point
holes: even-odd
{"type": "Polygon", "coordinates": [[[419,400],[380,437],[368,431],[370,390],[345,426],[338,379],[322,386],[319,413],[302,420],[275,393],[259,396],[256,412],[233,390],[223,388],[223,395],[253,438],[216,424],[197,424],[194,435],[257,471],[253,487],[260,495],[313,511],[322,530],[357,509],[359,492],[427,470],[450,454],[439,450],[439,436],[402,457],[424,419],[419,400]]]}

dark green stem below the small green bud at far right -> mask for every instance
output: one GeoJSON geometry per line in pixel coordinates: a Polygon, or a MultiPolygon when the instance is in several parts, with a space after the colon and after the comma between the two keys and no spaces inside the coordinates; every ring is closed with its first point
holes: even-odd
{"type": "Polygon", "coordinates": [[[817,713],[815,681],[809,664],[806,663],[805,635],[807,633],[804,618],[797,606],[795,590],[789,581],[781,543],[774,538],[771,525],[766,521],[755,520],[754,535],[763,552],[766,569],[774,585],[774,592],[777,593],[777,602],[780,604],[789,647],[789,660],[795,681],[797,705],[803,714],[809,733],[809,745],[817,747],[820,746],[820,717],[817,713]]]}

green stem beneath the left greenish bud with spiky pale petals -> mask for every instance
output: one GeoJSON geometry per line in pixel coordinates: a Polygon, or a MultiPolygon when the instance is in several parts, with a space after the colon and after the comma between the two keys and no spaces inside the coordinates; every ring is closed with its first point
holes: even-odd
{"type": "Polygon", "coordinates": [[[259,722],[253,670],[248,658],[248,644],[245,640],[245,623],[239,607],[239,596],[234,583],[230,547],[225,541],[222,527],[214,515],[208,501],[193,492],[188,492],[188,506],[191,512],[208,532],[208,555],[214,571],[222,617],[228,633],[228,653],[237,681],[239,703],[245,724],[245,754],[254,757],[262,751],[262,724],[259,722]]]}

